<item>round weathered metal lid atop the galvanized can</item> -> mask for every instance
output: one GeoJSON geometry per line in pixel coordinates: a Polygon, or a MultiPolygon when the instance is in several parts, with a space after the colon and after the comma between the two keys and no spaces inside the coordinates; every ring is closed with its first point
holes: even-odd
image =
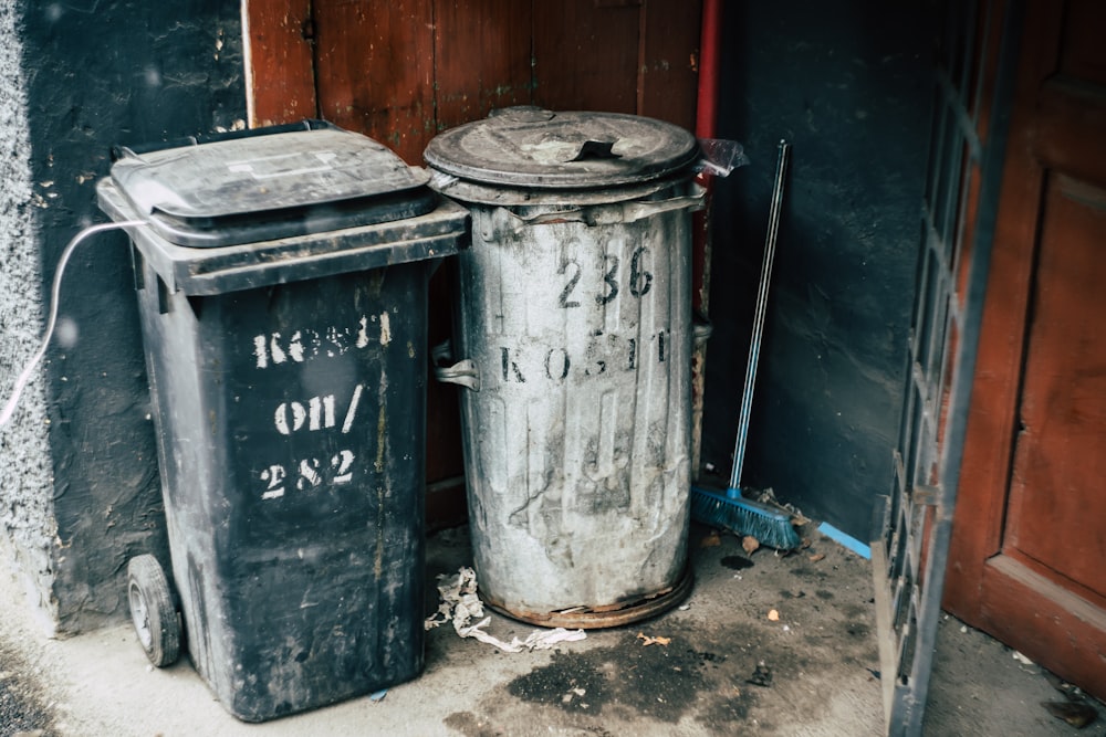
{"type": "Polygon", "coordinates": [[[550,189],[615,187],[690,167],[688,130],[620,113],[510,107],[436,136],[424,152],[438,171],[488,185],[550,189]]]}

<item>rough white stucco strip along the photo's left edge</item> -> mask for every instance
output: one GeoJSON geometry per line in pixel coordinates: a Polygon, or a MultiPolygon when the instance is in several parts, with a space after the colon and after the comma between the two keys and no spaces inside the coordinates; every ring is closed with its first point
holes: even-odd
{"type": "MultiPolygon", "coordinates": [[[[34,352],[43,322],[22,41],[14,0],[0,2],[0,402],[34,352]]],[[[0,575],[14,571],[52,629],[52,468],[41,373],[0,429],[0,575]]]]}

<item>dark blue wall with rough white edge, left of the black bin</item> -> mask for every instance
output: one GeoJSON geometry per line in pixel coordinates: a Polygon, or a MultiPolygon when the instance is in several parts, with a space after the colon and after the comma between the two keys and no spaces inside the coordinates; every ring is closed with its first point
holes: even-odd
{"type": "MultiPolygon", "coordinates": [[[[21,85],[25,120],[22,138],[3,144],[22,146],[15,166],[29,167],[31,186],[4,185],[2,217],[23,235],[10,252],[6,233],[3,278],[27,284],[11,327],[4,318],[7,356],[38,333],[65,244],[105,220],[94,185],[108,171],[111,147],[240,125],[246,98],[236,0],[9,0],[6,12],[20,43],[18,62],[3,57],[19,66],[4,83],[21,85]],[[28,197],[32,204],[20,206],[28,197]]],[[[4,43],[4,53],[12,48],[4,43]]],[[[0,515],[10,505],[28,510],[20,513],[27,530],[9,534],[9,547],[39,598],[52,602],[62,633],[124,618],[127,559],[167,550],[125,244],[116,233],[95,236],[71,261],[39,391],[6,432],[19,454],[0,465],[20,475],[4,482],[0,515]]]]}

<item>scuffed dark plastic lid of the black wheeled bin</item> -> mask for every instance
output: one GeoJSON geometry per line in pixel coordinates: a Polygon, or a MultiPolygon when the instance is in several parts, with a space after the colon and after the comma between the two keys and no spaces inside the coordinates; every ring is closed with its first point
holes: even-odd
{"type": "Polygon", "coordinates": [[[429,173],[322,120],[113,149],[111,179],[161,238],[269,241],[425,214],[429,173]]]}

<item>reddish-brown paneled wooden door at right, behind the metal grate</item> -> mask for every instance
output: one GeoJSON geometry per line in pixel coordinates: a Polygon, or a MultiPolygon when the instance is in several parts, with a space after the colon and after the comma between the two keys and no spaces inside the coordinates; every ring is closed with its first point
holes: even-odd
{"type": "Polygon", "coordinates": [[[1106,697],[1106,3],[1024,28],[945,607],[1106,697]]]}

